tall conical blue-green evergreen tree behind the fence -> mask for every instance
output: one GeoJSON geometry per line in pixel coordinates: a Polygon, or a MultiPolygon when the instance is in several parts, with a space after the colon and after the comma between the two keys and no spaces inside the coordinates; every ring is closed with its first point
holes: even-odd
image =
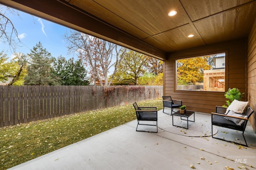
{"type": "Polygon", "coordinates": [[[54,61],[51,53],[43,48],[39,41],[28,54],[30,57],[28,75],[25,78],[26,85],[59,85],[55,75],[52,74],[52,63],[54,61]]]}

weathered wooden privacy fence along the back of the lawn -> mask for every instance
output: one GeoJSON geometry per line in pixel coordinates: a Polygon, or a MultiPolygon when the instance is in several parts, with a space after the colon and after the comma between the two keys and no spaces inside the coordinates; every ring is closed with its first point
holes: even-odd
{"type": "Polygon", "coordinates": [[[163,86],[0,86],[0,127],[154,100],[163,86]]]}

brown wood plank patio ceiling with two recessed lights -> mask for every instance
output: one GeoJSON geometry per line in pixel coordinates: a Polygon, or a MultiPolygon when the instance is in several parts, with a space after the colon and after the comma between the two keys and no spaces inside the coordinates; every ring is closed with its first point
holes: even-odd
{"type": "Polygon", "coordinates": [[[247,37],[255,0],[0,0],[72,29],[156,57],[247,37]],[[175,16],[168,12],[176,10],[175,16]],[[194,37],[187,37],[194,34],[194,37]]]}

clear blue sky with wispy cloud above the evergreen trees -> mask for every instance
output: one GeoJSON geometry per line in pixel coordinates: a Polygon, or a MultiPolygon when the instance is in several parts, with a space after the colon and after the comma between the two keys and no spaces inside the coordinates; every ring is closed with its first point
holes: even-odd
{"type": "MultiPolygon", "coordinates": [[[[39,41],[42,43],[43,47],[51,53],[52,57],[58,57],[62,55],[66,59],[74,57],[76,55],[68,55],[67,44],[64,40],[64,34],[69,32],[69,28],[56,23],[38,18],[36,16],[31,16],[24,12],[20,12],[20,17],[12,14],[7,14],[7,17],[12,21],[16,30],[18,31],[18,37],[24,44],[20,44],[22,47],[18,47],[16,52],[30,53],[30,49],[33,49],[39,41]]],[[[0,43],[0,51],[4,50],[4,53],[12,58],[12,53],[9,45],[4,45],[0,43]]]]}

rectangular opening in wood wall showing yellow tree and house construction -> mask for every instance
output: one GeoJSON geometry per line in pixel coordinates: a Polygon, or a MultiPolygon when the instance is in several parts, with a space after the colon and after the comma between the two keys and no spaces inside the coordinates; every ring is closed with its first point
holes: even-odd
{"type": "Polygon", "coordinates": [[[225,91],[225,53],[176,60],[176,90],[225,91]]]}

